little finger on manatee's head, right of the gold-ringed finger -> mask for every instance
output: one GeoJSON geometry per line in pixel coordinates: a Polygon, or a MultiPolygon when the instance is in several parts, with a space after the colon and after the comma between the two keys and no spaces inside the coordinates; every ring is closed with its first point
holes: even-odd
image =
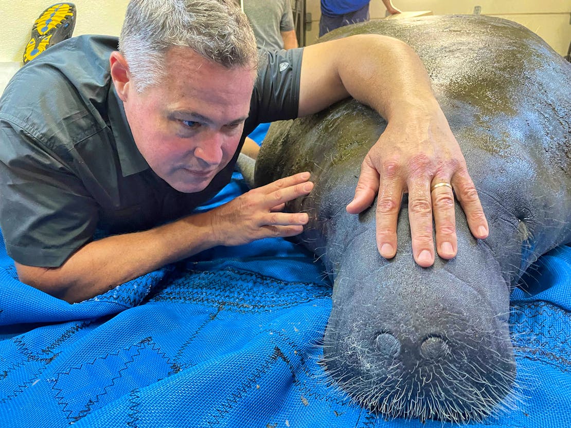
{"type": "Polygon", "coordinates": [[[456,192],[456,199],[464,209],[466,219],[468,220],[468,227],[472,235],[478,239],[487,238],[489,233],[488,221],[486,221],[480,197],[478,197],[478,192],[472,179],[468,175],[468,171],[465,171],[463,175],[459,175],[459,177],[454,180],[453,185],[456,192]]]}

